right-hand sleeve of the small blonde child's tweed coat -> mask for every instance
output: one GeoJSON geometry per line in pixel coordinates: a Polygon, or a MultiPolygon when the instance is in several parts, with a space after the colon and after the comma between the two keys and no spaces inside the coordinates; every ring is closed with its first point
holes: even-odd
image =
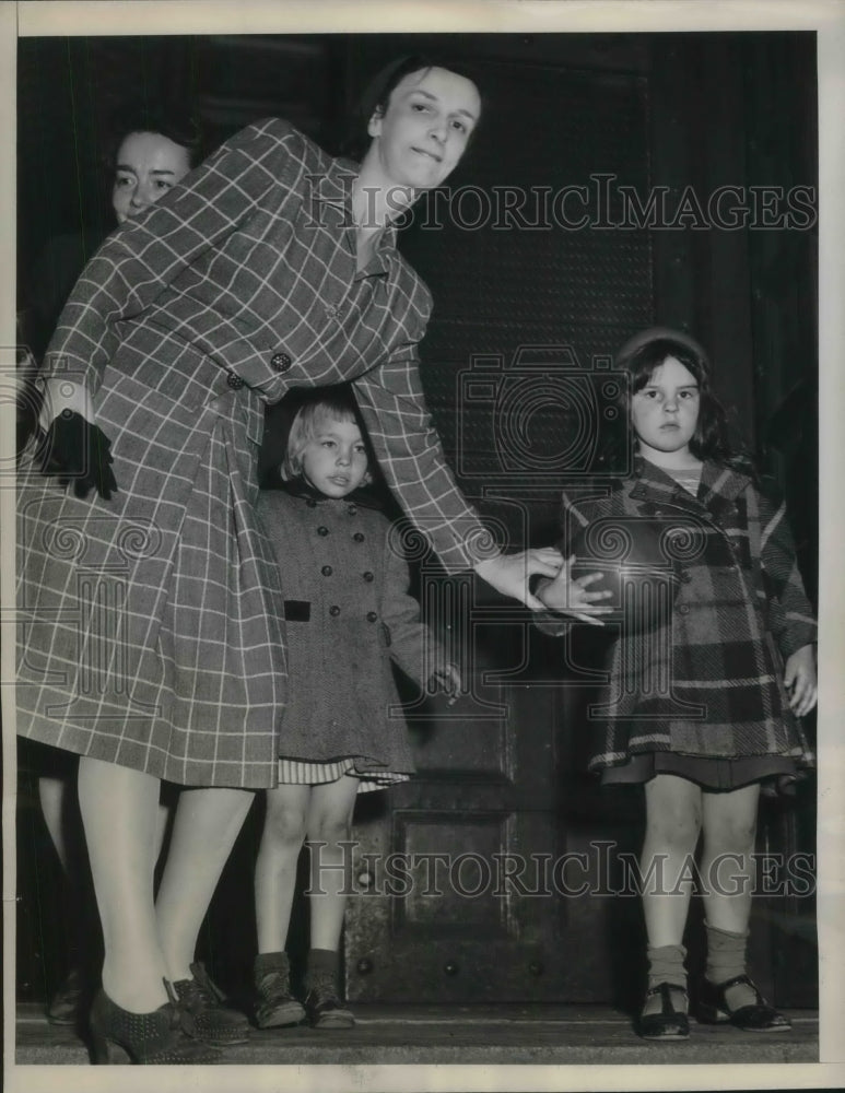
{"type": "Polygon", "coordinates": [[[382,620],[390,639],[390,657],[406,675],[425,686],[447,662],[446,650],[420,619],[420,604],[409,595],[410,574],[399,537],[388,533],[385,544],[382,620]]]}

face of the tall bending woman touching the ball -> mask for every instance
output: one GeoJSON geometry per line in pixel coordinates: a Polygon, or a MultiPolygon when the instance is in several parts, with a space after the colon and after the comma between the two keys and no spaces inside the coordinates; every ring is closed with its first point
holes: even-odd
{"type": "Polygon", "coordinates": [[[386,110],[376,110],[367,132],[385,181],[427,190],[457,166],[481,114],[471,80],[448,69],[409,72],[394,87],[386,110]]]}

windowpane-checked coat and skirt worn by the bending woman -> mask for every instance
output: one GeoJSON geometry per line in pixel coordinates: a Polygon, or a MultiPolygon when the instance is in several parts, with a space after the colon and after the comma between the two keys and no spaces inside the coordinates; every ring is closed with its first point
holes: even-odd
{"type": "Polygon", "coordinates": [[[43,374],[86,384],[119,492],[22,471],[24,736],[184,785],[274,784],[282,596],[254,508],[263,408],[291,387],[353,380],[403,508],[447,568],[471,563],[483,532],[420,384],[431,297],[389,230],[356,270],[354,169],[258,122],[83,271],[43,374]]]}

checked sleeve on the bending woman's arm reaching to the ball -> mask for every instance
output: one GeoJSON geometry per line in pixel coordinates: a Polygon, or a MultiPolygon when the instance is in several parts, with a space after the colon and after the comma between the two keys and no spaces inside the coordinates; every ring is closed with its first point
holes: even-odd
{"type": "MultiPolygon", "coordinates": [[[[425,316],[427,319],[427,315],[425,316]]],[[[418,341],[353,381],[388,486],[448,573],[472,568],[492,539],[458,489],[432,426],[420,379],[418,341]]]]}

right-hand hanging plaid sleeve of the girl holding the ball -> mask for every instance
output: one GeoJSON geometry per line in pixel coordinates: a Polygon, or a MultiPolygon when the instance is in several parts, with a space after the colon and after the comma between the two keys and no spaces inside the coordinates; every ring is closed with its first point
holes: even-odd
{"type": "Polygon", "coordinates": [[[768,600],[768,628],[786,659],[817,639],[812,607],[796,562],[786,506],[758,493],[760,561],[768,600]]]}

